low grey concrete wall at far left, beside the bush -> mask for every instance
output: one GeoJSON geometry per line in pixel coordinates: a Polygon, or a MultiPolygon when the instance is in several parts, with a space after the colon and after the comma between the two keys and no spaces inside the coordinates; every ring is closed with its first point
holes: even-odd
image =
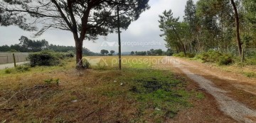
{"type": "MultiPolygon", "coordinates": [[[[28,61],[28,53],[14,52],[16,62],[28,61]]],[[[0,52],[0,64],[14,63],[13,53],[0,52]]]]}

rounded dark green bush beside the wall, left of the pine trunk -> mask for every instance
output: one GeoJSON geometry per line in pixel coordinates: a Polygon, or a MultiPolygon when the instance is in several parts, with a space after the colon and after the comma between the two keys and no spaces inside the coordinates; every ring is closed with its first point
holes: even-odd
{"type": "Polygon", "coordinates": [[[60,54],[55,54],[55,52],[36,52],[28,55],[30,59],[31,66],[55,66],[60,64],[59,58],[60,54]]]}

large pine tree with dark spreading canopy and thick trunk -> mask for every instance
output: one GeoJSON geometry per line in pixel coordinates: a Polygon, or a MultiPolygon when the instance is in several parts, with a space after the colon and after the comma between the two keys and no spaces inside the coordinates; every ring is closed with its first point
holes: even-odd
{"type": "Polygon", "coordinates": [[[132,21],[149,8],[149,0],[1,0],[0,25],[18,25],[23,30],[60,29],[73,33],[77,63],[82,66],[83,40],[95,40],[117,30],[117,6],[120,28],[127,29],[132,21]]]}

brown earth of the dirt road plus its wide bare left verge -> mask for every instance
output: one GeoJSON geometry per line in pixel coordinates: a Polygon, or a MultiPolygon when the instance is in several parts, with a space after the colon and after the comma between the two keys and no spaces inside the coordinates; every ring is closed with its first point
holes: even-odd
{"type": "Polygon", "coordinates": [[[255,78],[198,61],[176,57],[164,59],[168,59],[169,63],[154,67],[171,69],[191,81],[192,89],[198,88],[206,94],[206,99],[196,101],[195,107],[181,112],[180,115],[186,115],[186,119],[180,116],[176,122],[256,122],[255,78]]]}

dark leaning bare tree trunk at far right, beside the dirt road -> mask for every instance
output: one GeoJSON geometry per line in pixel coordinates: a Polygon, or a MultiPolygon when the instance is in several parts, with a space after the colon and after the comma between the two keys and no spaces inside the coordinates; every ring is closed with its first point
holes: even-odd
{"type": "Polygon", "coordinates": [[[240,27],[239,27],[239,16],[238,16],[238,8],[235,6],[235,1],[234,0],[230,0],[231,4],[234,8],[235,11],[235,27],[236,27],[236,36],[237,36],[237,42],[238,42],[238,53],[243,61],[243,57],[242,57],[242,43],[240,40],[240,27]]]}

